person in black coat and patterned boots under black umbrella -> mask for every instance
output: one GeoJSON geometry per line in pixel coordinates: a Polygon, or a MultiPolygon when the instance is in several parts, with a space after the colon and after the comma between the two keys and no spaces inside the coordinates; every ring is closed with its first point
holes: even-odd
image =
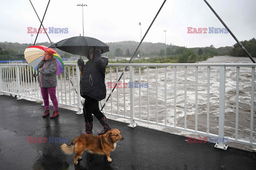
{"type": "Polygon", "coordinates": [[[85,134],[92,134],[93,117],[97,117],[103,126],[99,135],[111,130],[107,117],[99,109],[99,101],[106,98],[105,72],[108,58],[101,57],[100,47],[91,47],[87,54],[89,61],[84,64],[80,58],[77,61],[82,70],[80,81],[80,94],[85,98],[83,112],[85,119],[85,134]]]}

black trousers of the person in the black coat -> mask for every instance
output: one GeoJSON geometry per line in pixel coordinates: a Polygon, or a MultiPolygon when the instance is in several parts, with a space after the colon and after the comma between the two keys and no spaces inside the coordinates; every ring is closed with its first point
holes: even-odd
{"type": "Polygon", "coordinates": [[[92,114],[98,120],[101,120],[101,118],[103,118],[104,116],[103,113],[100,112],[99,101],[89,96],[85,96],[83,112],[84,112],[84,121],[86,123],[91,123],[93,121],[92,114]]]}

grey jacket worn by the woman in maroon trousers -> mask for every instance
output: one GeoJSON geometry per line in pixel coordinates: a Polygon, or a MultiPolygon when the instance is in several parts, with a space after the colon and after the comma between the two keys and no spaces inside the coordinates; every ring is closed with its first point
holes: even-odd
{"type": "Polygon", "coordinates": [[[39,86],[40,87],[56,87],[57,86],[57,62],[56,58],[52,57],[50,60],[42,60],[38,66],[42,69],[39,71],[39,86]]]}

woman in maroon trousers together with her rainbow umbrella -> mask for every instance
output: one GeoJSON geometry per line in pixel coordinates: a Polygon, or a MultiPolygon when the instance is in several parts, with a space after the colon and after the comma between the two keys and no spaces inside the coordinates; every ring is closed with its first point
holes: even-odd
{"type": "Polygon", "coordinates": [[[61,74],[65,68],[63,66],[64,64],[61,60],[61,57],[55,52],[55,50],[45,46],[30,46],[26,48],[24,54],[28,64],[40,73],[39,86],[41,88],[41,94],[45,107],[43,117],[50,115],[49,95],[54,108],[54,112],[50,118],[59,116],[58,100],[56,97],[56,75],[61,74]]]}

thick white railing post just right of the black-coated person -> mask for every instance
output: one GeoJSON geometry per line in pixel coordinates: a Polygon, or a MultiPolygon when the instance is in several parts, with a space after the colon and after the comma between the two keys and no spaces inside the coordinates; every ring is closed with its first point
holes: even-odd
{"type": "Polygon", "coordinates": [[[130,84],[132,87],[130,88],[130,124],[128,125],[131,128],[134,128],[137,126],[134,118],[134,71],[133,66],[130,66],[130,84]]]}

